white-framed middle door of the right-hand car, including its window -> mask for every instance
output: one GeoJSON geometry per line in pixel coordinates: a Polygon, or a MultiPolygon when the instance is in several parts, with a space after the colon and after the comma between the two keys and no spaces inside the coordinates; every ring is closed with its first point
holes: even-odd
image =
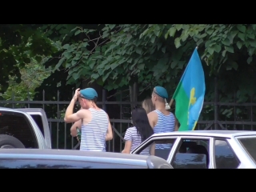
{"type": "Polygon", "coordinates": [[[173,154],[167,162],[175,168],[178,164],[183,164],[183,169],[189,168],[213,168],[211,160],[212,139],[210,137],[181,136],[178,140],[173,154]],[[186,160],[186,163],[182,163],[186,160]]]}

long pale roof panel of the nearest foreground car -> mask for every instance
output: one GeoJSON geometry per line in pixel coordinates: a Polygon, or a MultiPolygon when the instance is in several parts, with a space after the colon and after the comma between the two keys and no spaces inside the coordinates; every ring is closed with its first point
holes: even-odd
{"type": "Polygon", "coordinates": [[[146,166],[148,156],[86,150],[2,149],[0,150],[0,158],[41,158],[67,161],[110,162],[134,166],[146,166]]]}

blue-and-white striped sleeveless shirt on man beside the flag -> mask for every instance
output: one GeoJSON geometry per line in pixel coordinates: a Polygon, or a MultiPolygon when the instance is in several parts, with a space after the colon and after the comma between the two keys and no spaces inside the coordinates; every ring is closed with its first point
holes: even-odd
{"type": "MultiPolygon", "coordinates": [[[[172,132],[175,130],[174,114],[162,114],[160,110],[154,110],[158,114],[158,122],[154,126],[154,134],[162,134],[172,132]]],[[[170,149],[170,144],[156,144],[155,149],[170,149]]]]}

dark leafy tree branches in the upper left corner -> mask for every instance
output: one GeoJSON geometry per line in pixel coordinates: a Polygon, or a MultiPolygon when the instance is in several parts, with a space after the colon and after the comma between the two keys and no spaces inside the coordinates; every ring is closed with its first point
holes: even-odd
{"type": "Polygon", "coordinates": [[[41,26],[0,25],[0,93],[8,89],[10,82],[22,81],[20,70],[30,64],[32,58],[41,62],[42,57],[58,50],[55,43],[40,30],[41,26]]]}

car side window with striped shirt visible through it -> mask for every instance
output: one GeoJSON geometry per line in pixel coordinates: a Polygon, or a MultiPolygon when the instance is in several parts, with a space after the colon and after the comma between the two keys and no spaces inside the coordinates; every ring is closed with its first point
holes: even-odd
{"type": "Polygon", "coordinates": [[[136,154],[154,155],[167,160],[176,138],[154,139],[138,150],[136,154]]]}

